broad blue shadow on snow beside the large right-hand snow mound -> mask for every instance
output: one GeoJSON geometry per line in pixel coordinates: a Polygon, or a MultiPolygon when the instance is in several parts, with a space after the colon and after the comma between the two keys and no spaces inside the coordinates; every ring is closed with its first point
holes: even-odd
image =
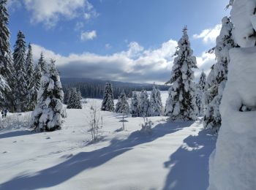
{"type": "Polygon", "coordinates": [[[190,135],[178,150],[164,163],[170,167],[164,190],[206,190],[208,187],[208,159],[216,144],[216,137],[201,131],[190,135]]]}

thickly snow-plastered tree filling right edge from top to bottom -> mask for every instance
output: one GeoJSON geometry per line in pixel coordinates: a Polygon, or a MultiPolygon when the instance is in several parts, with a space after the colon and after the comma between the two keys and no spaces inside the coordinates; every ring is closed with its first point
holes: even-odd
{"type": "Polygon", "coordinates": [[[209,161],[209,187],[256,187],[256,4],[231,0],[233,39],[240,47],[229,50],[227,82],[219,112],[222,125],[209,161]]]}

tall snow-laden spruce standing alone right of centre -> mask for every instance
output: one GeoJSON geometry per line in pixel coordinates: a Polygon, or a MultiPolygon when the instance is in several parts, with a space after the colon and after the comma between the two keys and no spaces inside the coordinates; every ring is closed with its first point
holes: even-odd
{"type": "Polygon", "coordinates": [[[172,84],[169,89],[169,97],[165,105],[165,115],[171,120],[181,119],[184,121],[195,120],[197,105],[195,102],[194,72],[197,68],[197,61],[192,55],[190,48],[187,27],[183,29],[183,36],[178,41],[176,58],[173,62],[173,69],[170,80],[166,83],[172,84]]]}

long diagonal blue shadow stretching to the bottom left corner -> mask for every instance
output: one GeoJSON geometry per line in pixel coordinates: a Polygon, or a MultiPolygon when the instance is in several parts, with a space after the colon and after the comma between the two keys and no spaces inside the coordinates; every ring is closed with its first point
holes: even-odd
{"type": "Polygon", "coordinates": [[[40,189],[59,185],[80,172],[99,167],[122,153],[132,150],[136,145],[152,142],[191,124],[192,122],[160,123],[152,129],[151,135],[144,135],[139,131],[132,132],[125,140],[111,140],[107,147],[91,152],[81,152],[53,167],[12,178],[2,183],[0,189],[40,189]]]}

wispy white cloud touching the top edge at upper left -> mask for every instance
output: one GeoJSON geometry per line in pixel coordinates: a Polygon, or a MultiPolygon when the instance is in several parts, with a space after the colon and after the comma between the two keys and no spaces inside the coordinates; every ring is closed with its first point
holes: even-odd
{"type": "Polygon", "coordinates": [[[83,12],[97,15],[88,0],[23,0],[23,2],[32,14],[31,23],[43,23],[48,28],[56,26],[61,18],[67,20],[78,18],[83,16],[83,12]]]}

